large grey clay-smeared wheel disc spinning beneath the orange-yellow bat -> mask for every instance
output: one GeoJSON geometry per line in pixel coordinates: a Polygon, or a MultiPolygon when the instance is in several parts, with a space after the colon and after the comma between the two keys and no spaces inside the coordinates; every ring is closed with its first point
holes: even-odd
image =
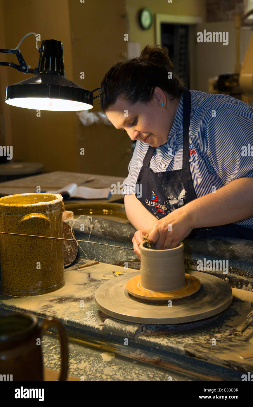
{"type": "Polygon", "coordinates": [[[231,287],[216,276],[188,271],[201,283],[194,295],[167,304],[147,304],[131,297],[126,289],[128,280],[138,276],[129,273],[112,278],[102,284],[95,293],[97,307],[112,318],[141,324],[182,324],[216,315],[226,309],[232,301],[231,287]]]}

